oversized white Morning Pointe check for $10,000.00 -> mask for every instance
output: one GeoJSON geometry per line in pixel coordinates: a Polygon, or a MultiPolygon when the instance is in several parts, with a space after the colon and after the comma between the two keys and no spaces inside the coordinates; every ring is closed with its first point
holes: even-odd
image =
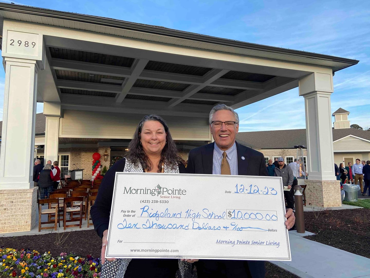
{"type": "Polygon", "coordinates": [[[290,261],[282,179],[116,173],[105,257],[290,261]]]}

